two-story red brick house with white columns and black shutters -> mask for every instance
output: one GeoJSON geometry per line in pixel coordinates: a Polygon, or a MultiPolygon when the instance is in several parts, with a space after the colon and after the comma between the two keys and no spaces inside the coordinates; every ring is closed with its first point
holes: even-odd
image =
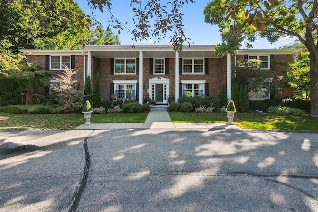
{"type": "MultiPolygon", "coordinates": [[[[192,45],[183,51],[174,52],[171,45],[89,45],[82,50],[21,50],[31,52],[27,61],[52,71],[54,77],[63,72],[62,64],[78,70],[75,79],[80,80],[83,93],[86,75],[92,84],[99,73],[101,98],[136,98],[143,102],[144,96],[167,103],[169,96],[177,100],[183,94],[218,96],[225,84],[227,96],[231,97],[231,79],[234,78],[234,64],[238,60],[260,59],[261,69],[267,70],[269,78],[285,76],[287,68],[275,60],[293,62],[295,49],[250,49],[238,50],[234,56],[218,57],[211,45],[192,45]]],[[[270,95],[250,94],[253,100],[270,98],[270,95]]],[[[283,88],[276,97],[293,98],[293,89],[283,88]]],[[[27,104],[31,98],[27,98],[27,104]]]]}

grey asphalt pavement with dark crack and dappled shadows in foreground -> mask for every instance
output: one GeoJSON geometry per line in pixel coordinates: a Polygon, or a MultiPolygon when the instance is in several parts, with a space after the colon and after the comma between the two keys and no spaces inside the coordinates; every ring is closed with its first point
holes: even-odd
{"type": "Polygon", "coordinates": [[[1,212],[318,211],[317,133],[48,130],[1,142],[1,212]]]}

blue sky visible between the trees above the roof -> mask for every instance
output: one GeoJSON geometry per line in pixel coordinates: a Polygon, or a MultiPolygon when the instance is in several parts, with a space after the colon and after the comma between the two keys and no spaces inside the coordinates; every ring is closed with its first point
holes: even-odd
{"type": "MultiPolygon", "coordinates": [[[[96,9],[92,13],[92,9],[87,5],[87,0],[74,0],[79,4],[79,7],[85,12],[86,15],[94,15],[96,20],[102,23],[104,29],[109,26],[109,12],[104,10],[103,13],[96,9]]],[[[165,0],[162,0],[165,1],[165,0]]],[[[191,39],[190,42],[194,45],[215,45],[221,42],[220,32],[217,26],[207,24],[204,22],[203,9],[211,0],[195,0],[195,3],[184,5],[182,8],[183,24],[185,27],[185,34],[191,39]]],[[[132,7],[130,7],[131,0],[111,0],[111,12],[121,22],[128,22],[128,28],[133,29],[132,7]]],[[[113,30],[118,33],[117,30],[113,30]]],[[[124,29],[119,35],[121,44],[124,45],[138,45],[138,44],[154,44],[154,40],[145,40],[143,42],[132,41],[132,35],[124,29]]],[[[269,49],[279,48],[289,44],[293,38],[282,38],[279,41],[270,44],[266,39],[258,39],[253,44],[254,49],[269,49]]],[[[170,38],[166,37],[160,41],[159,44],[169,44],[170,38]]]]}

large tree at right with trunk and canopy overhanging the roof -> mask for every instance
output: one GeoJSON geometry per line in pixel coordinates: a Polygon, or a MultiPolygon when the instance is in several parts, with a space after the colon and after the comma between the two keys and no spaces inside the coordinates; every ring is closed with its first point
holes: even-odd
{"type": "Polygon", "coordinates": [[[317,0],[213,0],[204,9],[205,21],[217,24],[222,43],[219,54],[234,54],[247,39],[251,46],[256,35],[277,41],[283,36],[296,37],[309,52],[311,111],[318,117],[318,43],[317,0]]]}

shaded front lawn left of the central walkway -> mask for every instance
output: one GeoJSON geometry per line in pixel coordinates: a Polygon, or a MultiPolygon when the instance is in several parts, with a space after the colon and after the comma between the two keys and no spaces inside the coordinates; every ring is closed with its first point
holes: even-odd
{"type": "MultiPolygon", "coordinates": [[[[148,113],[93,114],[92,123],[145,122],[148,113]]],[[[6,128],[65,129],[70,130],[85,123],[83,114],[7,114],[0,113],[0,130],[6,128]]]]}

